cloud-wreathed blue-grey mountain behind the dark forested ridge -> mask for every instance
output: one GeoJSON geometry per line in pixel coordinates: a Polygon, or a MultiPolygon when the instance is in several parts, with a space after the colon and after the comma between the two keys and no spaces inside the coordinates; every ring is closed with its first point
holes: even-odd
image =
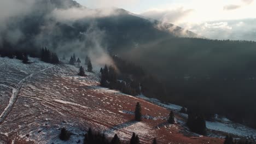
{"type": "Polygon", "coordinates": [[[56,51],[68,52],[73,49],[71,46],[66,47],[67,50],[59,46],[74,41],[84,43],[87,39],[81,33],[92,26],[107,35],[103,43],[107,45],[106,49],[112,50],[177,36],[196,37],[196,34],[181,27],[144,19],[124,9],[89,9],[72,0],[36,1],[28,13],[8,19],[7,26],[1,32],[1,47],[32,51],[48,46],[56,51]],[[15,40],[9,36],[14,32],[19,32],[15,40]]]}

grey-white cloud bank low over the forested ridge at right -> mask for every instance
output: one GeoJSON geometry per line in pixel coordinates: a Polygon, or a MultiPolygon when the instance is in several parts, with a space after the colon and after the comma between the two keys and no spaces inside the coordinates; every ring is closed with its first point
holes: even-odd
{"type": "Polygon", "coordinates": [[[183,23],[181,26],[209,39],[256,41],[256,19],[183,23]]]}

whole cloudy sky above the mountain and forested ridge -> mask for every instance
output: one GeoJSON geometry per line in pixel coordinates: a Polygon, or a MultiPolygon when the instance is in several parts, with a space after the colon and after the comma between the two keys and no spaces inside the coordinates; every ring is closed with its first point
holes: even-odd
{"type": "Polygon", "coordinates": [[[256,0],[77,1],[88,8],[123,8],[173,23],[207,38],[256,41],[256,0]]]}

